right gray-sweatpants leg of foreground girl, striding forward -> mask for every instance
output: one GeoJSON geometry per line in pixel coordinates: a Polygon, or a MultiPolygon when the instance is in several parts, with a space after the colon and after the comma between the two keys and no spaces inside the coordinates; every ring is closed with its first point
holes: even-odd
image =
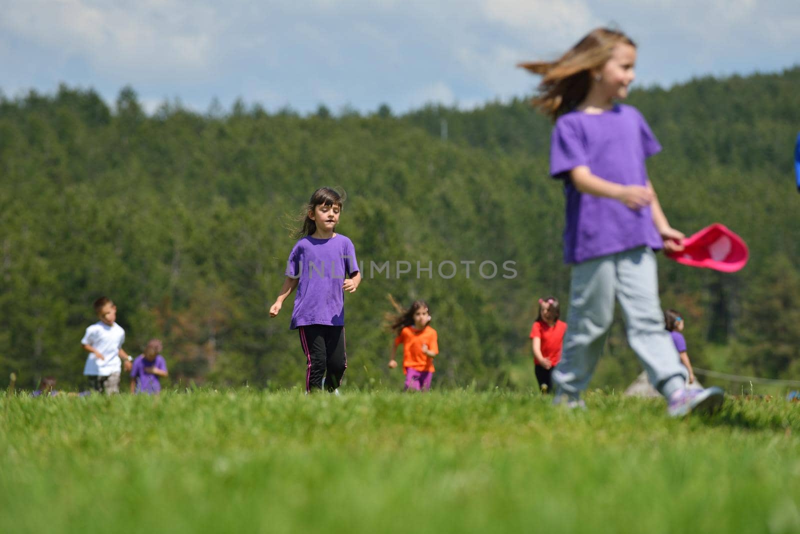
{"type": "Polygon", "coordinates": [[[664,328],[655,254],[647,247],[627,251],[617,263],[617,277],[630,348],[642,361],[650,384],[669,398],[686,386],[687,373],[664,328]]]}

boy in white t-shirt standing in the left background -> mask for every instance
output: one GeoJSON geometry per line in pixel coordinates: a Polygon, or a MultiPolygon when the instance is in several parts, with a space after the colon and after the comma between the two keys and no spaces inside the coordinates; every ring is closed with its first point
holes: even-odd
{"type": "Polygon", "coordinates": [[[94,311],[100,321],[90,325],[83,334],[81,345],[89,352],[83,374],[89,380],[90,389],[100,393],[119,393],[119,377],[122,361],[125,370],[130,371],[132,358],[122,349],[125,330],[118,325],[117,306],[108,297],[94,301],[94,311]]]}

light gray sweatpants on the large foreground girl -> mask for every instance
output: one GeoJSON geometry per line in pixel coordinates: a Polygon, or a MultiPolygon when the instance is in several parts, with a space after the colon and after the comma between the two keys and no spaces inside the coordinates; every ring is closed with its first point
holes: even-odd
{"type": "Polygon", "coordinates": [[[561,362],[553,371],[557,394],[577,399],[589,385],[619,300],[630,348],[650,384],[669,398],[686,385],[686,369],[664,329],[655,253],[649,247],[584,261],[572,268],[570,310],[561,362]]]}

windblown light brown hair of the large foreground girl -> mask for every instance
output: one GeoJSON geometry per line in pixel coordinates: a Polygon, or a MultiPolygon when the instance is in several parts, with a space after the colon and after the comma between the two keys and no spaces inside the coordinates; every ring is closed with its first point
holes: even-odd
{"type": "Polygon", "coordinates": [[[574,110],[589,94],[590,71],[605,65],[619,43],[636,47],[621,31],[595,28],[554,62],[519,63],[523,69],[542,76],[538,94],[531,103],[554,121],[574,110]]]}

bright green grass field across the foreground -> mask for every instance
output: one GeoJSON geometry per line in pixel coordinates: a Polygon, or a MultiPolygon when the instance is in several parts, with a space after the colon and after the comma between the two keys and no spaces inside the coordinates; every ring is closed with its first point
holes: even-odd
{"type": "Polygon", "coordinates": [[[2,532],[800,532],[800,404],[0,394],[2,532]]]}

